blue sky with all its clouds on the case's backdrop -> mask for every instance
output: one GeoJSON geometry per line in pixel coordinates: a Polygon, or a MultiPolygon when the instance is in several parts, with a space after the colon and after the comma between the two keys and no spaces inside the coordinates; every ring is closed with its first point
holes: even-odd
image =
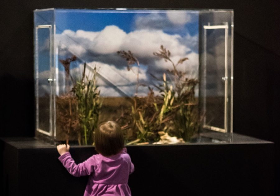
{"type": "MultiPolygon", "coordinates": [[[[170,50],[174,63],[180,58],[189,58],[178,65],[178,70],[186,72],[187,77],[198,78],[198,11],[73,9],[54,12],[57,94],[64,88],[64,68],[59,59],[72,55],[78,59],[70,65],[71,75],[80,74],[85,62],[88,75],[91,68],[98,68],[101,76],[98,84],[103,96],[135,93],[137,66],[128,71],[126,61],[117,54],[119,50],[130,50],[139,60],[139,96],[147,95],[147,86],[160,83],[152,75],[162,79],[163,73],[172,69],[170,62],[153,55],[159,52],[161,45],[170,50]]],[[[42,70],[41,77],[48,77],[47,72],[42,70]]]]}

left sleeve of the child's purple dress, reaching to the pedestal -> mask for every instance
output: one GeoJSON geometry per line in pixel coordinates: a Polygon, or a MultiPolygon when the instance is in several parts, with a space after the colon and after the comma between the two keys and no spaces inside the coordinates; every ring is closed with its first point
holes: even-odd
{"type": "Polygon", "coordinates": [[[62,156],[58,157],[58,160],[63,164],[68,172],[76,177],[90,175],[94,171],[94,166],[90,164],[90,162],[92,162],[90,159],[92,159],[92,157],[77,165],[70,152],[66,152],[62,156]]]}

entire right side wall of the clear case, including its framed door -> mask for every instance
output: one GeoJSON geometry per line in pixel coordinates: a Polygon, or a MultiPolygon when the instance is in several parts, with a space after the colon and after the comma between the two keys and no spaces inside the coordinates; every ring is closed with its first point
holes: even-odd
{"type": "Polygon", "coordinates": [[[200,131],[203,135],[225,136],[230,141],[233,131],[233,11],[205,10],[199,19],[200,131]],[[222,133],[214,134],[209,130],[222,133]]]}

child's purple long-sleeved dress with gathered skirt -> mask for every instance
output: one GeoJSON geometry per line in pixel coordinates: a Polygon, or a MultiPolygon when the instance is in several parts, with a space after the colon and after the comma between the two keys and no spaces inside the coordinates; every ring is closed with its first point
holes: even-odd
{"type": "Polygon", "coordinates": [[[131,195],[128,176],[134,171],[134,165],[126,148],[109,157],[93,155],[78,165],[69,152],[59,156],[58,159],[73,176],[89,175],[84,196],[131,195]]]}

